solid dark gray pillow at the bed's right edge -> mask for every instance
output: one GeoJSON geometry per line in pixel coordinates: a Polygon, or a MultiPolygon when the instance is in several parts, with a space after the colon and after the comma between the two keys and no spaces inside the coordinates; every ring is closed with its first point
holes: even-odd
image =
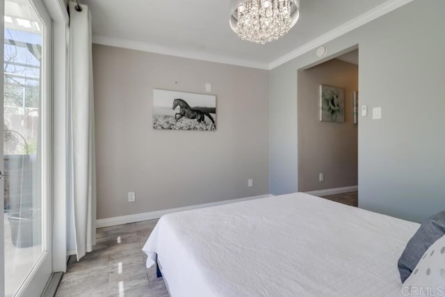
{"type": "Polygon", "coordinates": [[[435,243],[437,239],[445,234],[445,211],[428,218],[417,230],[412,239],[408,241],[401,258],[398,259],[398,271],[401,273],[401,280],[405,280],[419,263],[426,250],[435,243]]]}

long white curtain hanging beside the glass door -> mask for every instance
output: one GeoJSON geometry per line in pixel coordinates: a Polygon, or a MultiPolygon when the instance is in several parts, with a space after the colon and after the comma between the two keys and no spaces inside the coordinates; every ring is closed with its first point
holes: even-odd
{"type": "MultiPolygon", "coordinates": [[[[95,118],[92,92],[91,17],[70,2],[70,94],[68,104],[68,198],[77,259],[92,251],[96,235],[95,118]]],[[[69,224],[71,225],[71,224],[69,224]]]]}

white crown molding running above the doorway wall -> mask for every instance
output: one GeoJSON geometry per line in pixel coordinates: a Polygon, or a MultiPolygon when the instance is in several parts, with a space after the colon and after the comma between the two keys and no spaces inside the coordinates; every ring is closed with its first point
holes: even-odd
{"type": "Polygon", "coordinates": [[[396,10],[397,8],[404,6],[407,3],[410,3],[414,0],[389,0],[385,3],[382,3],[380,6],[376,6],[375,8],[367,11],[366,13],[351,19],[350,21],[338,26],[337,28],[321,35],[320,37],[307,42],[305,45],[294,49],[293,51],[285,54],[284,56],[277,58],[275,61],[269,64],[269,70],[273,70],[273,68],[278,67],[286,62],[291,61],[293,58],[297,58],[302,54],[306,54],[308,51],[312,51],[312,49],[316,49],[321,45],[325,45],[325,43],[338,38],[341,35],[344,35],[354,29],[357,29],[359,26],[363,26],[366,23],[381,17],[382,15],[386,15],[392,10],[396,10]]]}

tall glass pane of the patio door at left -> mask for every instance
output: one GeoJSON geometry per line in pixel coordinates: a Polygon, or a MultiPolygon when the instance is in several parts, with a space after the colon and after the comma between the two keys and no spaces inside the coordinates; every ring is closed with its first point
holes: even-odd
{"type": "Polygon", "coordinates": [[[5,1],[5,294],[13,296],[43,252],[41,191],[43,25],[31,3],[5,1]]]}

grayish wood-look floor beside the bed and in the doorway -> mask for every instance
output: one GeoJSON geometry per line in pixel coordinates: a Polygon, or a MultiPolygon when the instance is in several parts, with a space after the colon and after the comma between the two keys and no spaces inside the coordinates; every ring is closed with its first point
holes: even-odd
{"type": "MultiPolygon", "coordinates": [[[[323,198],[357,207],[357,192],[323,198]]],[[[145,241],[158,220],[97,229],[93,252],[81,261],[70,258],[67,273],[56,292],[57,297],[117,296],[167,297],[162,278],[154,267],[145,268],[145,241]]]]}

